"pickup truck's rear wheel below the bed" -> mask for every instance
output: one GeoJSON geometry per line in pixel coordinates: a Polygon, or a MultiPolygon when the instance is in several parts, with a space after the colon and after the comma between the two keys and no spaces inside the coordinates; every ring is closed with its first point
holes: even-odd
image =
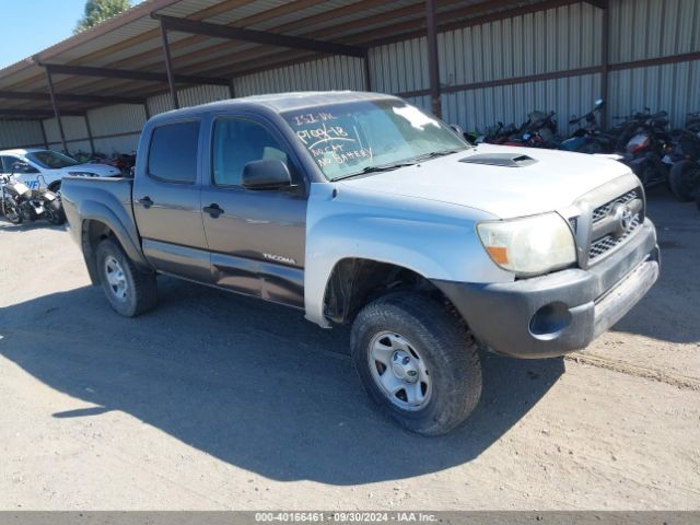
{"type": "Polygon", "coordinates": [[[136,317],[155,307],[155,273],[139,271],[116,242],[110,238],[102,241],[97,245],[95,261],[102,289],[118,314],[136,317]]]}

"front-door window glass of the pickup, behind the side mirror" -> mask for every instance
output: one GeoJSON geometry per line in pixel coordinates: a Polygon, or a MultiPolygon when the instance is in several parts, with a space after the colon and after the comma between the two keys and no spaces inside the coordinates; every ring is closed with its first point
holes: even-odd
{"type": "Polygon", "coordinates": [[[212,141],[212,179],[217,186],[241,186],[243,167],[252,161],[279,160],[294,182],[299,175],[285,148],[262,126],[244,118],[220,118],[212,141]]]}

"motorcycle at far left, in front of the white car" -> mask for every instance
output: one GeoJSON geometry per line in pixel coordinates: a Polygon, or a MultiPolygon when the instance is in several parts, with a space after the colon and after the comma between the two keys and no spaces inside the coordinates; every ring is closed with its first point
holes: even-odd
{"type": "MultiPolygon", "coordinates": [[[[12,174],[0,176],[2,214],[12,224],[22,224],[24,221],[37,221],[46,219],[51,224],[63,224],[66,213],[60,198],[49,189],[31,189],[24,183],[14,177],[14,170],[19,163],[12,166],[12,174]]],[[[45,183],[46,184],[46,183],[45,183]]]]}

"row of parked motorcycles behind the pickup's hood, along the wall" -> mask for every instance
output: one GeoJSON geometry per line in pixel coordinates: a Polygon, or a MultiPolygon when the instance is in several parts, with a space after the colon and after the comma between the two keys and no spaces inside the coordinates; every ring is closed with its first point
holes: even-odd
{"type": "Polygon", "coordinates": [[[681,129],[669,129],[666,112],[649,108],[623,117],[610,129],[598,122],[604,101],[585,115],[572,116],[578,126],[570,137],[558,135],[555,112],[533,112],[521,126],[498,122],[486,133],[465,133],[472,142],[548,148],[580,153],[614,154],[629,165],[649,188],[666,184],[681,201],[697,199],[700,209],[700,112],[688,114],[681,129]]]}

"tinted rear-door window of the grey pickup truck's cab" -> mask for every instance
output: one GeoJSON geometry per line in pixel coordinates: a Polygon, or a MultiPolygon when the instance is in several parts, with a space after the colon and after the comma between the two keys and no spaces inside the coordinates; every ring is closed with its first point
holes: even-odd
{"type": "Polygon", "coordinates": [[[198,145],[199,120],[159,126],[151,136],[149,175],[166,183],[194,183],[198,145]]]}

